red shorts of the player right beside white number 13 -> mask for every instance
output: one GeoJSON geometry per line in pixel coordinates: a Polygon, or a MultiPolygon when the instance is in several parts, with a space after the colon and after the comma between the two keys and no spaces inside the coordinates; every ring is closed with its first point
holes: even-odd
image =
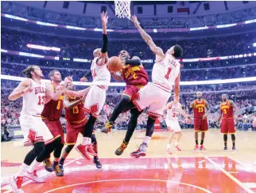
{"type": "Polygon", "coordinates": [[[51,131],[53,138],[61,137],[61,143],[64,144],[64,132],[60,120],[49,121],[48,119],[42,119],[48,130],[51,131]]]}

